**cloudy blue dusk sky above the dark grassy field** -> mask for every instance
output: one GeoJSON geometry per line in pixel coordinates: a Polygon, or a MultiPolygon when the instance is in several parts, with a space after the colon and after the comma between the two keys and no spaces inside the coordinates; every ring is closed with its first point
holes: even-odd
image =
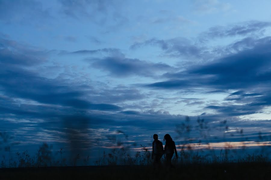
{"type": "Polygon", "coordinates": [[[270,6],[0,0],[0,150],[270,145],[270,6]]]}

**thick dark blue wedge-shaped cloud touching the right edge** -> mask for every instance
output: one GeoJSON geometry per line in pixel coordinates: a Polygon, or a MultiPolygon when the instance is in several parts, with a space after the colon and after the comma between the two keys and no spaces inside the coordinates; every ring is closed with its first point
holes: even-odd
{"type": "Polygon", "coordinates": [[[271,37],[257,40],[257,45],[236,54],[229,55],[201,67],[189,70],[189,73],[213,76],[209,85],[224,88],[246,88],[265,83],[270,74],[271,37]]]}

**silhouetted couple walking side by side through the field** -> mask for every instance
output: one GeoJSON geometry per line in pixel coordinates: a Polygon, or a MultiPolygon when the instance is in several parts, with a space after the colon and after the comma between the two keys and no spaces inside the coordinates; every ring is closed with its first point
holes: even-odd
{"type": "Polygon", "coordinates": [[[175,152],[176,158],[178,158],[175,142],[172,140],[169,134],[164,136],[164,141],[166,141],[165,148],[163,148],[163,143],[158,140],[158,135],[153,135],[154,141],[152,142],[152,155],[151,158],[154,160],[154,168],[160,166],[160,159],[165,154],[166,155],[166,166],[167,170],[169,170],[171,165],[171,158],[175,152]]]}

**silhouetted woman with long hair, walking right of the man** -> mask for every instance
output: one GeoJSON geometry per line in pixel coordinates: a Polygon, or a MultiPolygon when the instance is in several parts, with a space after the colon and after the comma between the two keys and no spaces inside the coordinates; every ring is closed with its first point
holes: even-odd
{"type": "Polygon", "coordinates": [[[170,167],[172,167],[171,158],[173,157],[174,151],[175,151],[176,158],[178,158],[178,154],[177,154],[175,142],[172,140],[169,134],[166,134],[164,136],[164,141],[166,141],[164,154],[166,154],[166,165],[167,165],[167,168],[169,169],[170,167]]]}

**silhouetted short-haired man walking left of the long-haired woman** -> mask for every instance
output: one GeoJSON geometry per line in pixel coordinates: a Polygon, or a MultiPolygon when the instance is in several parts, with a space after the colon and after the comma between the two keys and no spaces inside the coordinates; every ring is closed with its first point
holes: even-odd
{"type": "Polygon", "coordinates": [[[151,158],[154,160],[153,165],[156,168],[158,165],[160,166],[160,159],[164,154],[163,143],[158,140],[158,135],[153,135],[154,141],[152,142],[152,154],[151,158]]]}

